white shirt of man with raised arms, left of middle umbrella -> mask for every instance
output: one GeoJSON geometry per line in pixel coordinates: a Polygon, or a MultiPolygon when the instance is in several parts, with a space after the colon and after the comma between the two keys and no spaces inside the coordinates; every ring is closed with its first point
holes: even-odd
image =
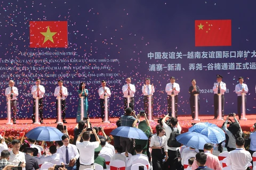
{"type": "Polygon", "coordinates": [[[94,163],[94,149],[98,148],[100,143],[97,142],[90,142],[90,141],[83,141],[83,142],[76,142],[77,149],[81,154],[80,157],[80,164],[83,165],[91,165],[94,163]]]}

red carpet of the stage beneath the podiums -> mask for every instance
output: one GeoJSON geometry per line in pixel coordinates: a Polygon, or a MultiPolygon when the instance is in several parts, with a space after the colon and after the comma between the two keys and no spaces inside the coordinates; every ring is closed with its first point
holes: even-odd
{"type": "MultiPolygon", "coordinates": [[[[239,122],[243,131],[250,131],[250,127],[254,123],[256,123],[256,114],[246,115],[246,118],[247,118],[247,121],[241,120],[239,122]]],[[[223,121],[213,120],[213,116],[200,116],[199,119],[201,119],[201,122],[214,123],[219,127],[221,127],[221,125],[223,124],[223,121]]],[[[92,126],[101,126],[102,128],[104,128],[105,133],[108,135],[113,129],[116,128],[117,120],[118,118],[110,118],[110,123],[101,123],[100,118],[91,118],[90,121],[92,123],[92,126]]],[[[191,123],[193,123],[190,116],[180,116],[178,117],[178,120],[182,127],[182,133],[187,132],[188,129],[192,126],[191,123]]],[[[233,118],[231,118],[231,120],[233,121],[233,118]]],[[[5,131],[5,136],[12,135],[15,137],[16,135],[19,135],[20,132],[26,133],[37,126],[55,126],[55,127],[57,126],[57,124],[54,123],[55,119],[44,120],[44,124],[41,124],[41,125],[34,125],[31,122],[32,122],[31,120],[18,120],[17,124],[6,125],[6,120],[0,120],[0,129],[1,129],[0,132],[2,133],[3,131],[5,131]]],[[[65,125],[67,125],[69,135],[74,135],[74,128],[77,124],[76,120],[68,119],[67,122],[68,123],[65,125]]],[[[154,122],[150,122],[150,126],[154,132],[155,132],[156,125],[157,125],[157,118],[155,118],[154,122]]]]}

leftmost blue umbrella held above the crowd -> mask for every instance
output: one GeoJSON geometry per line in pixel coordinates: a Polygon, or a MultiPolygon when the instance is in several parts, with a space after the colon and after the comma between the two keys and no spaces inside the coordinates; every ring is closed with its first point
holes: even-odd
{"type": "Polygon", "coordinates": [[[59,141],[61,140],[63,133],[57,128],[49,126],[39,126],[30,130],[26,137],[29,139],[42,140],[42,141],[59,141]]]}

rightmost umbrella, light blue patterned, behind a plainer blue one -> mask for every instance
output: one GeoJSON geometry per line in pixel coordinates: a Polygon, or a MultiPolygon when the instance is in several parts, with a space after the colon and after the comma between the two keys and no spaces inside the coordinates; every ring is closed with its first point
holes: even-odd
{"type": "Polygon", "coordinates": [[[189,132],[197,132],[208,137],[213,143],[220,143],[226,140],[225,133],[217,125],[200,122],[188,129],[189,132]]]}

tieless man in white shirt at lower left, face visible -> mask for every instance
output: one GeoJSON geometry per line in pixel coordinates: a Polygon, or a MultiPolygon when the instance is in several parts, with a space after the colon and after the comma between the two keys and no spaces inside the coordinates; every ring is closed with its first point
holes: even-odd
{"type": "Polygon", "coordinates": [[[21,162],[20,166],[22,166],[23,169],[26,167],[26,160],[25,160],[25,154],[20,150],[20,141],[18,139],[14,139],[12,141],[12,150],[10,151],[10,159],[9,162],[13,163],[15,166],[18,166],[21,162]]]}

